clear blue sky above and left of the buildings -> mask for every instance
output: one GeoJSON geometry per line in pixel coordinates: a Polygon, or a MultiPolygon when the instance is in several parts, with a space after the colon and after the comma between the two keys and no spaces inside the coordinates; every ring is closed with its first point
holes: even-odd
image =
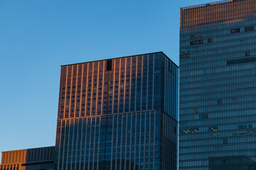
{"type": "MultiPolygon", "coordinates": [[[[163,51],[206,0],[0,0],[0,152],[55,145],[60,65],[163,51]]],[[[1,156],[1,154],[0,154],[1,156]]]]}

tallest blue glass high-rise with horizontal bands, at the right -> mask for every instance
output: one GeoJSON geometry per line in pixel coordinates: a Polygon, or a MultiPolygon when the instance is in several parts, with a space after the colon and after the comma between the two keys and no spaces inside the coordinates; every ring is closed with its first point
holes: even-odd
{"type": "Polygon", "coordinates": [[[179,169],[256,169],[256,1],[181,8],[179,169]]]}

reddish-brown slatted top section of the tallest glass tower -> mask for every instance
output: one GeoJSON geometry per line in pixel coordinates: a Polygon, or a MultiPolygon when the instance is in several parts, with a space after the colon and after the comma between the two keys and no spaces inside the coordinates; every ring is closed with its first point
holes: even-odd
{"type": "Polygon", "coordinates": [[[255,0],[225,0],[181,8],[181,28],[256,14],[255,0]]]}

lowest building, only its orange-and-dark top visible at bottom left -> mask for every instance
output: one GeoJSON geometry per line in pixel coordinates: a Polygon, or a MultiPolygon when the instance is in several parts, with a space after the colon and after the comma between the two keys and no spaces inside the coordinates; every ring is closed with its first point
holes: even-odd
{"type": "Polygon", "coordinates": [[[53,170],[55,147],[1,152],[1,170],[53,170]]]}

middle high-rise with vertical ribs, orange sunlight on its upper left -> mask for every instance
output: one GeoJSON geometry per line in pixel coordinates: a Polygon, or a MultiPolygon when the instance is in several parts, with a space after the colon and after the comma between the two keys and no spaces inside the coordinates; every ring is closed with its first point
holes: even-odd
{"type": "Polygon", "coordinates": [[[163,52],[61,67],[55,168],[176,169],[178,67],[163,52]]]}

